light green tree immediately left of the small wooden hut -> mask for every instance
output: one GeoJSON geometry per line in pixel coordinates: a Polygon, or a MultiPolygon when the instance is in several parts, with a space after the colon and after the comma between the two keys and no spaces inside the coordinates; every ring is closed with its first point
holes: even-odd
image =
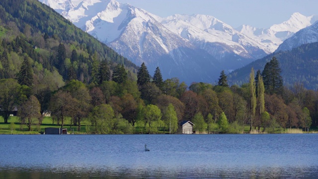
{"type": "Polygon", "coordinates": [[[162,112],[162,119],[164,123],[169,126],[169,134],[175,133],[178,129],[178,118],[177,113],[174,110],[173,104],[169,103],[169,105],[162,112]]]}

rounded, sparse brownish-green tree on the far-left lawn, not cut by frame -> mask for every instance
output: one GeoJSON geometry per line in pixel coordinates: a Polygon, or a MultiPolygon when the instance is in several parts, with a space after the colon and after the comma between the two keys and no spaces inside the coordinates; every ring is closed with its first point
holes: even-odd
{"type": "Polygon", "coordinates": [[[22,123],[24,123],[25,119],[27,119],[26,125],[28,126],[29,131],[31,131],[31,126],[34,123],[40,123],[40,110],[40,103],[34,95],[31,95],[28,100],[21,105],[21,108],[19,109],[19,116],[22,119],[22,123]]]}

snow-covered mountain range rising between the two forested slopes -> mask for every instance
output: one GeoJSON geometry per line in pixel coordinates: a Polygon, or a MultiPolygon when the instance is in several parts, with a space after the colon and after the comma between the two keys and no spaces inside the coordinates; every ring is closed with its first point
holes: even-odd
{"type": "MultiPolygon", "coordinates": [[[[274,52],[284,40],[312,25],[317,15],[294,13],[269,28],[233,28],[202,14],[159,17],[115,0],[40,0],[76,26],[150,73],[164,79],[215,83],[226,73],[274,52]]],[[[290,46],[290,45],[287,45],[290,46]]]]}

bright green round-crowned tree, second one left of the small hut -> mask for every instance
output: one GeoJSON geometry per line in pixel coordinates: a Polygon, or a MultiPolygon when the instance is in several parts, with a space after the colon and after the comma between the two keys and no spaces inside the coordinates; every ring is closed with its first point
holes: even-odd
{"type": "Polygon", "coordinates": [[[161,116],[162,116],[161,111],[156,105],[149,104],[144,108],[144,118],[145,118],[146,124],[148,123],[148,126],[149,126],[148,128],[149,134],[151,133],[152,124],[155,121],[160,120],[161,116]]]}

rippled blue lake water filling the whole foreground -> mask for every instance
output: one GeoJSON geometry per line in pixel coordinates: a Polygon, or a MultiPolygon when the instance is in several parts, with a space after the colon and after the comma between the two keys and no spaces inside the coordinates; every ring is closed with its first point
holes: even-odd
{"type": "Polygon", "coordinates": [[[318,178],[318,134],[0,135],[0,152],[0,179],[318,178]]]}

